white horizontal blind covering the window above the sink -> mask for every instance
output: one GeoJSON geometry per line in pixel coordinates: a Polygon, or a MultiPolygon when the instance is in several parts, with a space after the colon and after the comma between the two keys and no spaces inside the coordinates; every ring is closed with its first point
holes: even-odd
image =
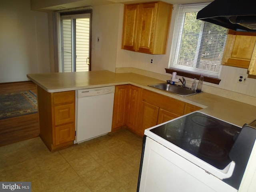
{"type": "Polygon", "coordinates": [[[207,4],[180,5],[170,54],[170,68],[218,78],[227,29],[196,20],[207,4]]]}

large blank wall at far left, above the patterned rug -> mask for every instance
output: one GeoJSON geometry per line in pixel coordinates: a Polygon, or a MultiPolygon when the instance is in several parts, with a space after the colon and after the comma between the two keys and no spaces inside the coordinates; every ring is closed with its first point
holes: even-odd
{"type": "Polygon", "coordinates": [[[0,18],[0,83],[49,72],[47,14],[31,11],[30,0],[1,0],[0,18]]]}

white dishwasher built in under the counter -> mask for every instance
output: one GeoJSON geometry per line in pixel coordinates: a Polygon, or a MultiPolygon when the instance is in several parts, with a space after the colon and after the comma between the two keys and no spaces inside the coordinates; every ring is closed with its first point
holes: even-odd
{"type": "Polygon", "coordinates": [[[76,143],[111,131],[115,86],[76,90],[76,143]]]}

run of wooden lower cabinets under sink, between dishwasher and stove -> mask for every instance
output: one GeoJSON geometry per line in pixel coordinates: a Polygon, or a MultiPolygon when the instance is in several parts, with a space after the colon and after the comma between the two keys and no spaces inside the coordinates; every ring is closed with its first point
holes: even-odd
{"type": "Polygon", "coordinates": [[[112,131],[126,126],[142,137],[147,128],[200,109],[137,86],[120,85],[115,91],[112,131]]]}

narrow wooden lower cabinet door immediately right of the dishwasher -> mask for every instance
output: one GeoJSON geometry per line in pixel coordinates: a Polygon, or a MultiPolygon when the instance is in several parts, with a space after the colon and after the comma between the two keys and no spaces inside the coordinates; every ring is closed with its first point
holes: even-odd
{"type": "Polygon", "coordinates": [[[129,85],[118,85],[115,87],[112,131],[126,124],[129,88],[129,85]]]}

